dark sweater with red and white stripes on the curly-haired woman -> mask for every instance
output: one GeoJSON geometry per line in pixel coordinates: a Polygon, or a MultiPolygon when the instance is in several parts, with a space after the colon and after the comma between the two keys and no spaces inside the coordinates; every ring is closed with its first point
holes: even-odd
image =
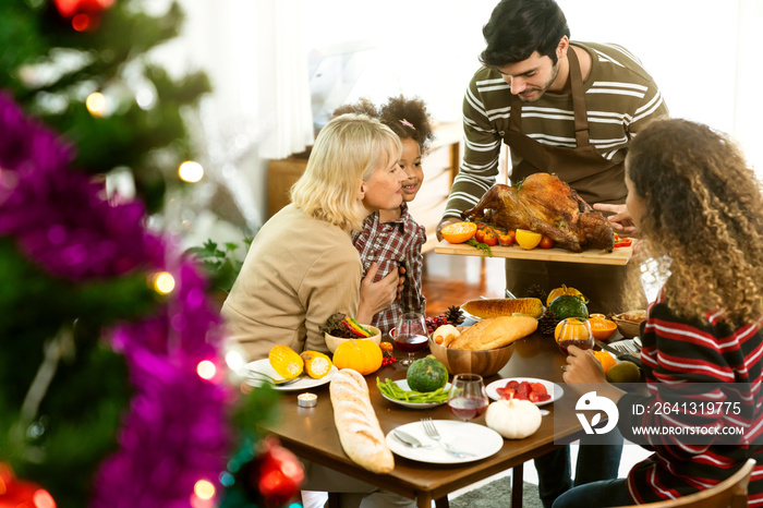
{"type": "Polygon", "coordinates": [[[639,504],[705,489],[734,474],[753,457],[759,465],[750,482],[749,503],[752,507],[763,506],[761,323],[731,329],[719,314],[708,313],[707,317],[708,325],[678,319],[663,295],[650,306],[641,334],[641,360],[650,395],[622,396],[618,402],[618,427],[626,438],[632,436],[634,426],[704,427],[719,432],[724,427],[743,427],[744,435],[676,433],[646,437],[647,448],[654,453],[628,473],[629,493],[639,504]],[[703,409],[719,409],[718,402],[731,403],[718,411],[703,409]],[[665,403],[669,404],[667,411],[665,403]],[[646,409],[643,414],[634,414],[634,406],[646,409]]]}

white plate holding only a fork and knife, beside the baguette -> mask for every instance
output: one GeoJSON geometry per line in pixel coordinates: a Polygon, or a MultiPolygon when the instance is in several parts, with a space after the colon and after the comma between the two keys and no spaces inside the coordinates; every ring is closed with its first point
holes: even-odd
{"type": "Polygon", "coordinates": [[[448,453],[436,440],[426,436],[421,422],[407,423],[398,428],[419,439],[424,445],[423,447],[411,448],[403,445],[391,432],[387,434],[387,446],[400,457],[434,464],[458,464],[486,459],[497,453],[504,446],[504,438],[500,437],[500,434],[484,425],[455,420],[435,420],[433,423],[439,435],[443,436],[443,442],[457,450],[474,453],[474,457],[458,458],[448,453]]]}

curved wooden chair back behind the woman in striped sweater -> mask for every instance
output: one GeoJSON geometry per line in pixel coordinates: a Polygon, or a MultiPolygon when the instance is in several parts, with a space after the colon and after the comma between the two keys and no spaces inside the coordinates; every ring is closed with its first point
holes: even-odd
{"type": "MultiPolygon", "coordinates": [[[[714,487],[695,492],[688,496],[665,501],[638,505],[639,508],[677,508],[681,506],[701,506],[702,508],[747,508],[747,485],[750,483],[755,459],[749,459],[731,476],[714,487]]],[[[617,508],[628,508],[620,506],[617,508]]]]}

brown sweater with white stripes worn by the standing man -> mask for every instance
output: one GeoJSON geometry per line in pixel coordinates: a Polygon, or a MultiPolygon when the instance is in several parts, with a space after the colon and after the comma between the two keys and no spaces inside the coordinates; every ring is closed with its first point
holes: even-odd
{"type": "MultiPolygon", "coordinates": [[[[620,162],[633,135],[649,120],[667,116],[667,107],[657,85],[628,50],[615,45],[573,44],[592,58],[591,73],[583,83],[591,144],[602,156],[620,162]]],[[[459,217],[461,211],[474,207],[496,183],[498,155],[509,130],[510,112],[510,86],[498,71],[481,68],[463,99],[463,161],[445,217],[459,217]]],[[[540,143],[574,148],[573,119],[571,96],[546,92],[537,101],[522,106],[522,133],[540,143]]],[[[519,160],[512,154],[512,162],[517,165],[519,160]]],[[[561,174],[559,178],[565,180],[561,174]]],[[[607,196],[603,201],[625,203],[625,196],[607,196]]]]}

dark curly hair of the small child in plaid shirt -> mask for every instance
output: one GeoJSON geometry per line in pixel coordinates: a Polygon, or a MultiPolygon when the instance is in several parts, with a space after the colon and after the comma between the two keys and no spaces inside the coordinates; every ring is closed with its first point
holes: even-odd
{"type": "Polygon", "coordinates": [[[390,97],[379,109],[370,99],[363,97],[355,104],[339,106],[331,113],[331,118],[344,113],[363,113],[380,120],[400,137],[400,141],[415,141],[422,156],[426,155],[429,144],[435,138],[426,105],[417,97],[413,99],[407,99],[402,95],[390,97]]]}

